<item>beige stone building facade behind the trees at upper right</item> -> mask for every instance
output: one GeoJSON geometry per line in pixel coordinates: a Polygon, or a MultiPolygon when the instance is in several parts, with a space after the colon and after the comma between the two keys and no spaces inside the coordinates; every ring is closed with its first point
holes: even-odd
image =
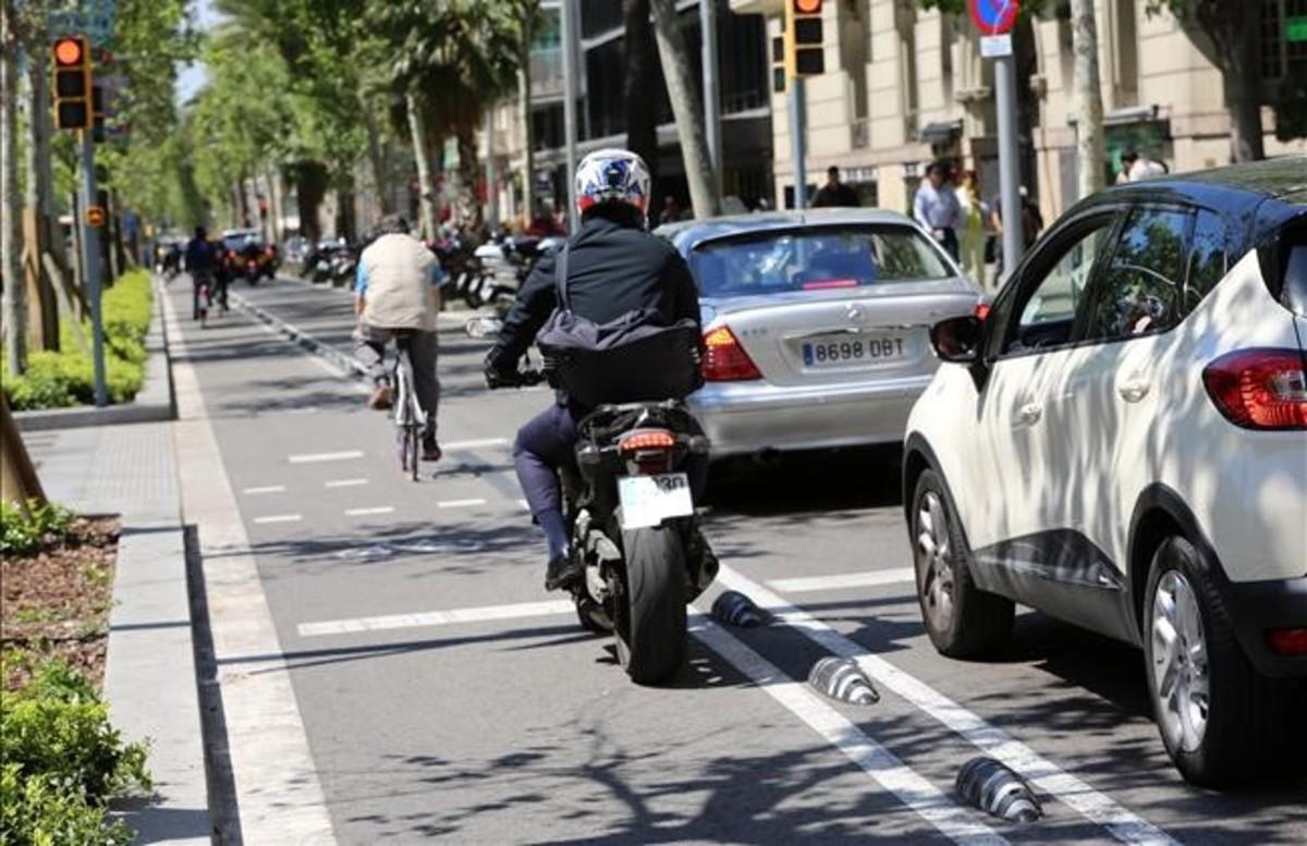
{"type": "MultiPolygon", "coordinates": [[[[1263,1],[1264,86],[1307,67],[1307,43],[1290,35],[1307,0],[1263,1]]],[[[1073,54],[1067,3],[1051,3],[1014,33],[1021,86],[1022,181],[1046,219],[1076,198],[1073,54]]],[[[1230,111],[1222,74],[1204,38],[1148,0],[1098,0],[1099,69],[1106,115],[1107,176],[1120,154],[1137,149],[1172,171],[1216,167],[1230,158],[1230,111]]],[[[1235,5],[1235,4],[1231,4],[1235,5]]],[[[736,14],[766,17],[767,37],[783,30],[783,0],[731,0],[736,14]]],[[[925,164],[958,159],[975,168],[985,192],[997,189],[992,63],[980,57],[967,16],[921,10],[906,0],[827,0],[822,9],[826,73],[806,81],[806,170],[810,188],[838,164],[864,202],[906,210],[925,164]]],[[[787,97],[772,91],[775,196],[786,204],[795,168],[788,151],[787,97]]],[[[1266,154],[1307,151],[1281,144],[1264,110],[1266,154]]]]}

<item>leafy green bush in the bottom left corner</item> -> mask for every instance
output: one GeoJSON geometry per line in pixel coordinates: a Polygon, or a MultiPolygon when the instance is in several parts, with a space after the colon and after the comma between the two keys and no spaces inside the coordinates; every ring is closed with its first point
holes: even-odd
{"type": "Polygon", "coordinates": [[[148,790],[145,747],[124,744],[108,706],[80,672],[50,662],[0,714],[0,843],[125,846],[108,800],[148,790]]]}

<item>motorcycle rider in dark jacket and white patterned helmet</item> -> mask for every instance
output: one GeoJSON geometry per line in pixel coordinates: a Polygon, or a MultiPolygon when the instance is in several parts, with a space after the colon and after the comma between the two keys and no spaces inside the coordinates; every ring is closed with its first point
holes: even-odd
{"type": "MultiPolygon", "coordinates": [[[[699,295],[685,258],[644,228],[650,175],[644,161],[627,150],[599,150],[576,168],[580,230],[567,242],[567,295],[579,317],[603,324],[642,308],[654,308],[674,322],[701,321],[699,295]]],[[[558,253],[540,258],[527,278],[485,362],[491,388],[518,381],[518,360],[558,307],[558,253]]],[[[533,522],[545,535],[549,567],[545,589],[567,588],[583,573],[569,552],[558,470],[575,461],[579,422],[591,409],[563,392],[518,432],[514,463],[533,522]]],[[[706,460],[686,467],[691,487],[702,487],[706,460]]],[[[690,556],[711,556],[695,529],[690,556]]]]}

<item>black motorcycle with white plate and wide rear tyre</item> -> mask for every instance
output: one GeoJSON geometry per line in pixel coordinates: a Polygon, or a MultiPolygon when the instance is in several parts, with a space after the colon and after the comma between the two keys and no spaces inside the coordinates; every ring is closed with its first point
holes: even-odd
{"type": "MultiPolygon", "coordinates": [[[[477,317],[467,333],[485,338],[502,325],[477,317]]],[[[518,384],[542,379],[527,369],[518,384]]],[[[697,529],[685,463],[708,452],[697,431],[676,400],[600,406],[579,424],[575,467],[561,474],[570,555],[584,571],[572,588],[576,618],[614,636],[618,662],[638,684],[667,682],[681,668],[685,607],[716,577],[715,559],[691,554],[697,529]]]]}

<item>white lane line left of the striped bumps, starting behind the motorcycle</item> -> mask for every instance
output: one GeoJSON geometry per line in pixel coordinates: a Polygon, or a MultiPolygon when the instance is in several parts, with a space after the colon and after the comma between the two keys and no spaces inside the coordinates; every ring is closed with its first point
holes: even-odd
{"type": "Polygon", "coordinates": [[[1008,842],[984,822],[972,819],[972,815],[954,804],[935,785],[910,769],[847,717],[819,700],[804,684],[787,676],[707,616],[691,611],[690,632],[945,837],[968,846],[1008,842]]]}

